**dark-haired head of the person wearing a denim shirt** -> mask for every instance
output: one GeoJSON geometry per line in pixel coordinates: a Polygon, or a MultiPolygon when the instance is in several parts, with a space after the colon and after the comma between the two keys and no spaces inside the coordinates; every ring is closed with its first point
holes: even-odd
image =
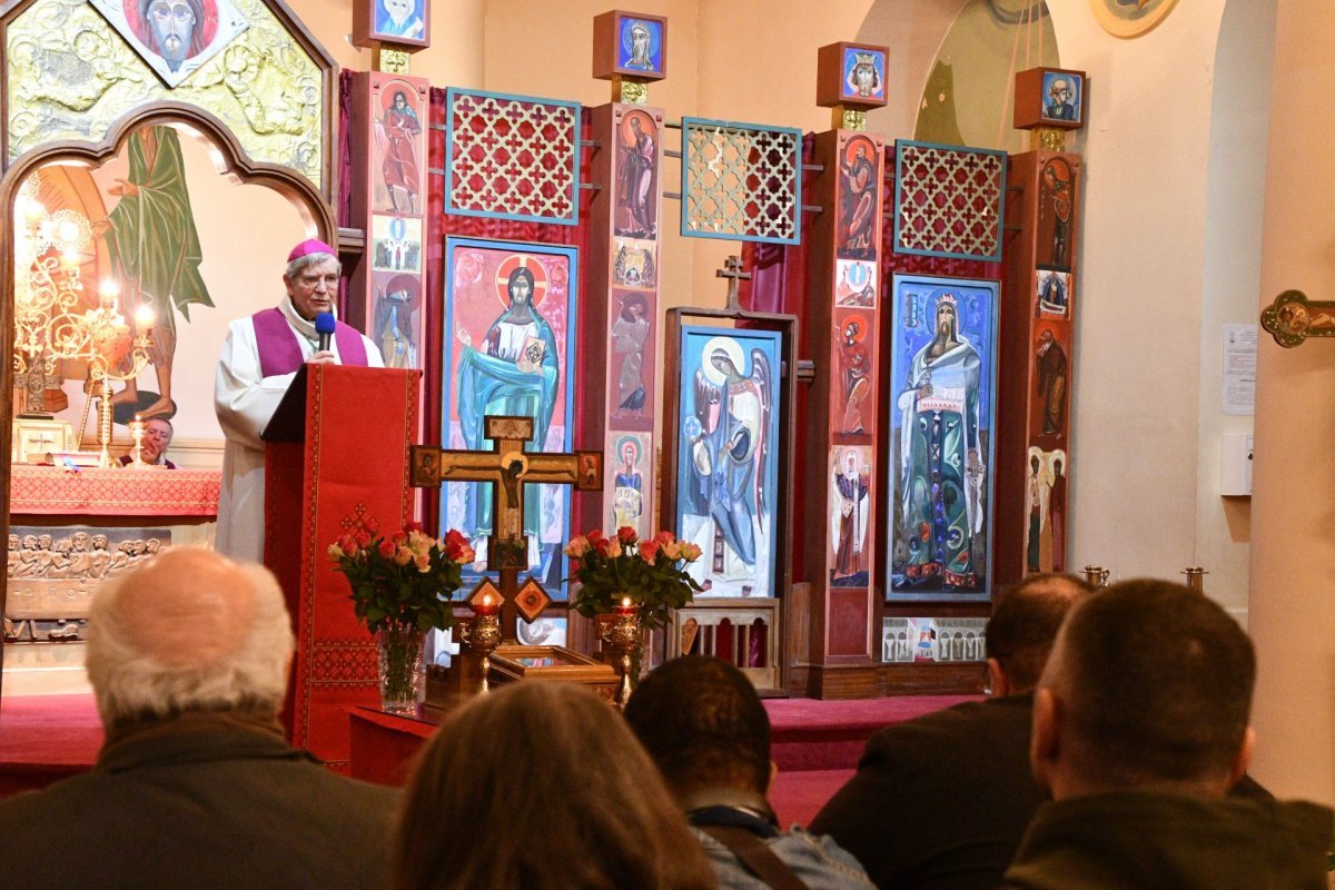
{"type": "Polygon", "coordinates": [[[769,789],[769,715],[740,670],[705,655],[666,662],[626,703],[626,722],[681,798],[769,789]]]}

